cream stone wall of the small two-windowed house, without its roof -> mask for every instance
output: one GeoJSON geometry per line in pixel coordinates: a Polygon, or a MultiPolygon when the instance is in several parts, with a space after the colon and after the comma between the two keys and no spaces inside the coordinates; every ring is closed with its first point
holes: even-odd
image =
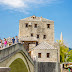
{"type": "Polygon", "coordinates": [[[38,62],[57,62],[57,49],[38,49],[31,52],[31,57],[37,57],[38,62]],[[41,58],[38,58],[38,53],[41,53],[41,58]],[[47,53],[50,53],[50,57],[47,58],[47,53]]]}

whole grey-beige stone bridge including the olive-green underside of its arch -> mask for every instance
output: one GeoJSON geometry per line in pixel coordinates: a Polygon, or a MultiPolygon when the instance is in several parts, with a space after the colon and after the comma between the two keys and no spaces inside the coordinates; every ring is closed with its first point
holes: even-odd
{"type": "Polygon", "coordinates": [[[0,49],[0,67],[10,67],[10,72],[34,72],[34,63],[21,43],[0,49]]]}

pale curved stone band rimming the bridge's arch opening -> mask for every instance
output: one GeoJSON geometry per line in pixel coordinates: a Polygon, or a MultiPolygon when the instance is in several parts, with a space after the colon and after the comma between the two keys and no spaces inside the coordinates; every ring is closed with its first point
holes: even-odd
{"type": "Polygon", "coordinates": [[[29,68],[29,65],[28,65],[28,63],[27,63],[27,60],[26,60],[25,56],[22,55],[22,53],[20,53],[20,52],[19,52],[19,53],[16,53],[15,55],[13,55],[13,56],[10,58],[9,62],[6,64],[6,67],[11,67],[12,64],[13,64],[13,62],[15,62],[15,61],[17,61],[17,60],[19,60],[19,59],[24,62],[25,66],[26,66],[26,68],[27,68],[27,70],[28,70],[28,72],[30,72],[30,68],[29,68]]]}

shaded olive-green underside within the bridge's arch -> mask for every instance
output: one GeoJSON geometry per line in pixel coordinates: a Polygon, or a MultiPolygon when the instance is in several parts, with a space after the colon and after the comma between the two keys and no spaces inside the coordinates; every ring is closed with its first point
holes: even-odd
{"type": "Polygon", "coordinates": [[[25,63],[20,58],[13,61],[9,67],[11,68],[10,72],[28,72],[25,63]]]}

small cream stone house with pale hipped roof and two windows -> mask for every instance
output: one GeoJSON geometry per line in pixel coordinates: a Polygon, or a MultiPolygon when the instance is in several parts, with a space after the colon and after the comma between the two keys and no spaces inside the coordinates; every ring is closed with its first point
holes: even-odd
{"type": "Polygon", "coordinates": [[[47,42],[42,42],[32,49],[31,57],[37,57],[38,62],[57,62],[58,50],[47,42]],[[41,53],[41,58],[38,58],[38,53],[41,53]],[[49,57],[47,57],[47,53],[49,53],[49,57]]]}

